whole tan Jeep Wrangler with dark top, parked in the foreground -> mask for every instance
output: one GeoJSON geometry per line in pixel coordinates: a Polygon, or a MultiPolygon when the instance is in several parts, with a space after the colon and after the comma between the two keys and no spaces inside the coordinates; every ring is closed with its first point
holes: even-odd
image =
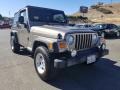
{"type": "Polygon", "coordinates": [[[93,64],[109,53],[104,38],[92,30],[69,26],[63,11],[35,6],[15,13],[10,44],[14,53],[22,48],[31,52],[44,81],[55,77],[59,69],[93,64]]]}

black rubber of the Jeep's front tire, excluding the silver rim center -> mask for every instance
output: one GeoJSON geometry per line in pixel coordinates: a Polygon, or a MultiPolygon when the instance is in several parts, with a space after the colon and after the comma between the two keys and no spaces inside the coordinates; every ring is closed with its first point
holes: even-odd
{"type": "Polygon", "coordinates": [[[52,60],[50,58],[50,55],[48,53],[48,49],[46,47],[40,46],[40,47],[36,48],[35,54],[34,54],[34,66],[35,66],[35,69],[36,69],[36,72],[37,72],[38,76],[43,81],[52,80],[57,74],[57,71],[54,68],[54,60],[52,60]],[[44,62],[45,62],[45,70],[44,70],[43,73],[40,73],[40,71],[38,70],[38,66],[37,66],[37,64],[38,64],[37,63],[38,62],[37,56],[39,54],[43,56],[44,62]]]}

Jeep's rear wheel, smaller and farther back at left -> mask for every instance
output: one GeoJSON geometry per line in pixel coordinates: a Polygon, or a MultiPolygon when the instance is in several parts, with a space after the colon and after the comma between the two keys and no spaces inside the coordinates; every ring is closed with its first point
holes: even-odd
{"type": "Polygon", "coordinates": [[[20,45],[17,43],[15,36],[11,36],[10,45],[11,45],[11,50],[14,53],[18,53],[20,51],[20,45]]]}

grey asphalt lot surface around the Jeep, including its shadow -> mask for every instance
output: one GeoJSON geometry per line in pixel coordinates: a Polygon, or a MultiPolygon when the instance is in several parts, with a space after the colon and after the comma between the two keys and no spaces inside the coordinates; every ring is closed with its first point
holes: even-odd
{"type": "Polygon", "coordinates": [[[10,30],[0,30],[0,90],[120,90],[120,39],[107,39],[110,54],[95,65],[62,70],[58,78],[43,82],[29,53],[12,53],[10,30]]]}

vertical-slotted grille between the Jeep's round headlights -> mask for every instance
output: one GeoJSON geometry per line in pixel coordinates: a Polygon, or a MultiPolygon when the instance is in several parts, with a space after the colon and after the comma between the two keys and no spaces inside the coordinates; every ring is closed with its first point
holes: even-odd
{"type": "Polygon", "coordinates": [[[88,49],[92,47],[92,33],[81,33],[75,35],[75,49],[88,49]]]}

